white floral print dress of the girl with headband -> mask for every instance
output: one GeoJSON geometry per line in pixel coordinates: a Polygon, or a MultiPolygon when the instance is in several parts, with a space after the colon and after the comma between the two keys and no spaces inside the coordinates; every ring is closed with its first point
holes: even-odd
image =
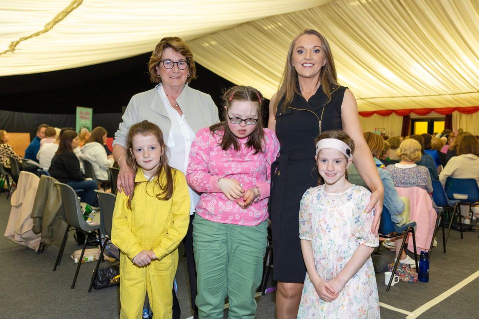
{"type": "MultiPolygon", "coordinates": [[[[371,193],[353,185],[341,193],[328,193],[324,185],[309,188],[299,209],[299,237],[310,240],[319,276],[330,281],[348,263],[359,245],[377,247],[371,234],[374,213],[366,213],[371,193]]],[[[371,258],[346,283],[338,298],[319,298],[306,274],[298,318],[380,318],[379,298],[371,258]]]]}

